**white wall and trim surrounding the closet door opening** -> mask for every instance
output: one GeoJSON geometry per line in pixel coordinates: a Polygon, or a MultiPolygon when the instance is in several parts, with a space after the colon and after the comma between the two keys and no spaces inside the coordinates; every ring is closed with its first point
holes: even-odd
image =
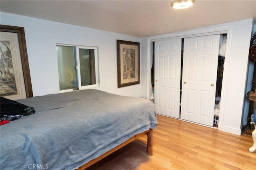
{"type": "MultiPolygon", "coordinates": [[[[249,86],[248,53],[253,20],[242,20],[209,27],[201,27],[187,31],[168,33],[148,37],[148,60],[150,60],[150,42],[159,39],[191,37],[216,33],[228,33],[226,59],[224,63],[224,75],[222,82],[222,99],[220,105],[220,120],[218,129],[237,135],[241,134],[243,114],[248,115],[248,100],[246,99],[246,87],[249,86]],[[247,86],[246,86],[247,85],[247,86]]],[[[149,72],[150,70],[148,70],[149,72]]],[[[150,82],[148,82],[150,84],[150,82]]],[[[146,89],[148,96],[150,89],[146,89]]]]}

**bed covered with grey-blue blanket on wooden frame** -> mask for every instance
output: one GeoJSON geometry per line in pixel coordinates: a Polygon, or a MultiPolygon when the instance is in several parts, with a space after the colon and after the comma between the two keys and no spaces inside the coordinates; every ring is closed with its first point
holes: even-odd
{"type": "Polygon", "coordinates": [[[144,98],[78,90],[17,100],[32,115],[0,126],[0,169],[84,169],[157,126],[144,98]]]}

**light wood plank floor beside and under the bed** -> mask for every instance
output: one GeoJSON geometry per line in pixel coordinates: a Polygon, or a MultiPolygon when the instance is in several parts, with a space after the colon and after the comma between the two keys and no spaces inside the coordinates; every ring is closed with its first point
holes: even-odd
{"type": "Polygon", "coordinates": [[[250,135],[232,135],[161,115],[153,132],[153,156],[146,136],[86,170],[256,170],[250,135]]]}

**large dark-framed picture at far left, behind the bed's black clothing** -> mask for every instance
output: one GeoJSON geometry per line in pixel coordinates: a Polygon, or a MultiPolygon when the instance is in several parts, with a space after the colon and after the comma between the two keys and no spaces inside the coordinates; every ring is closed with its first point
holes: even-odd
{"type": "Polygon", "coordinates": [[[33,97],[24,27],[0,25],[0,96],[10,100],[33,97]]]}

